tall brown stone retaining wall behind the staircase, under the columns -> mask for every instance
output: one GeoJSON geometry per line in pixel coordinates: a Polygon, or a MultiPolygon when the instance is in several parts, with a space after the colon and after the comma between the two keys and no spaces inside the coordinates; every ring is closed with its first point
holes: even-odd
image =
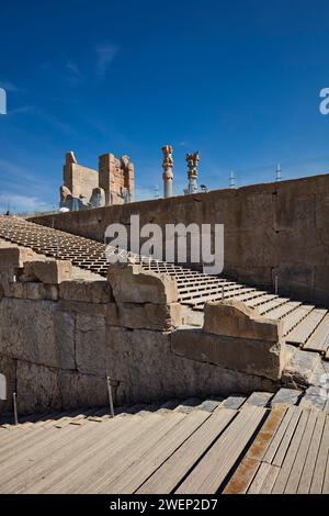
{"type": "Polygon", "coordinates": [[[39,224],[103,240],[109,224],[225,225],[224,273],[329,305],[329,175],[33,217],[39,224]]]}

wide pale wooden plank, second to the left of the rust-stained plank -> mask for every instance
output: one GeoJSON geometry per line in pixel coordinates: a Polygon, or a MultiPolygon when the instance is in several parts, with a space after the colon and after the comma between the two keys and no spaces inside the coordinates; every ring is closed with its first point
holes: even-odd
{"type": "Polygon", "coordinates": [[[171,493],[236,415],[237,412],[230,408],[220,408],[220,411],[216,411],[212,414],[212,416],[136,491],[136,494],[171,493]]]}

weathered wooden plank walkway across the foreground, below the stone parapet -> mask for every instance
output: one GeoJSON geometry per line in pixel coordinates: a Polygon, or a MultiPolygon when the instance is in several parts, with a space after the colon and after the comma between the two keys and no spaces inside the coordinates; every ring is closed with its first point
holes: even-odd
{"type": "Polygon", "coordinates": [[[2,425],[0,493],[329,493],[328,414],[234,401],[2,425]]]}

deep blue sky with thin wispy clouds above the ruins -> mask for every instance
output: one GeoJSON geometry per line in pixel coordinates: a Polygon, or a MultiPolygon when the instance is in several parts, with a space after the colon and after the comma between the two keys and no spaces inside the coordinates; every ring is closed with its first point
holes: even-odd
{"type": "Polygon", "coordinates": [[[58,202],[67,150],[97,168],[128,154],[137,199],[161,183],[161,146],[200,182],[237,186],[329,171],[325,0],[0,0],[0,210],[58,202]]]}

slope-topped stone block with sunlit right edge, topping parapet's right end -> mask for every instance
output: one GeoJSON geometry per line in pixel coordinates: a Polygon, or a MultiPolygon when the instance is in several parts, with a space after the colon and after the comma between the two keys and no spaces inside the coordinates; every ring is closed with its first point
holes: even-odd
{"type": "Polygon", "coordinates": [[[282,341],[282,322],[262,317],[241,301],[207,302],[204,309],[205,333],[241,339],[282,341]]]}

